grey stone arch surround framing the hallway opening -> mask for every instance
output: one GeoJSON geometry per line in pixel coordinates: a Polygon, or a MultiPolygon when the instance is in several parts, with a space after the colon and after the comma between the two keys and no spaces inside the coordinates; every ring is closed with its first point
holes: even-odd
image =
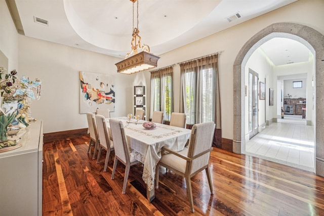
{"type": "MultiPolygon", "coordinates": [[[[272,24],[257,34],[255,34],[250,40],[246,42],[244,47],[241,48],[239,54],[237,55],[234,64],[233,64],[233,80],[234,83],[240,83],[239,85],[234,85],[234,97],[233,97],[233,106],[234,106],[234,125],[236,125],[236,129],[233,131],[233,152],[242,154],[245,153],[245,129],[244,122],[246,120],[245,109],[241,105],[244,104],[244,76],[242,76],[242,69],[245,67],[247,59],[251,56],[252,50],[255,50],[262,44],[264,41],[267,41],[269,38],[273,38],[274,36],[282,37],[285,36],[293,36],[297,38],[297,40],[302,41],[304,44],[314,55],[314,75],[313,75],[313,87],[314,92],[312,93],[312,108],[311,111],[313,113],[313,118],[311,119],[312,125],[314,126],[314,135],[318,134],[318,123],[321,125],[321,122],[317,122],[316,119],[324,118],[324,113],[317,113],[316,110],[322,109],[323,105],[320,101],[324,101],[324,95],[320,94],[321,88],[320,85],[316,88],[316,79],[320,78],[320,67],[323,65],[322,58],[315,57],[316,52],[320,52],[324,50],[324,45],[319,44],[317,41],[321,41],[323,35],[318,31],[304,25],[296,24],[296,23],[275,23],[272,24]],[[289,33],[283,33],[289,32],[289,33]],[[311,37],[305,37],[305,32],[307,35],[312,35],[311,37]],[[255,41],[258,41],[257,43],[255,41]],[[315,66],[316,65],[316,66],[315,66]]],[[[291,38],[291,37],[290,37],[291,38]]],[[[320,135],[320,134],[318,134],[320,135]]],[[[315,157],[316,160],[314,162],[316,175],[324,176],[324,145],[320,145],[324,143],[324,136],[315,136],[315,145],[316,152],[315,157]]]]}

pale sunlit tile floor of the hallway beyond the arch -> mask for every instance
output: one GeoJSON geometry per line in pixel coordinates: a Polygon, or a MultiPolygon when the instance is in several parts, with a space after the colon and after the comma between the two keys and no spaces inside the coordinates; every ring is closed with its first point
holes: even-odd
{"type": "Polygon", "coordinates": [[[313,127],[297,115],[277,121],[246,143],[246,154],[315,172],[313,127]]]}

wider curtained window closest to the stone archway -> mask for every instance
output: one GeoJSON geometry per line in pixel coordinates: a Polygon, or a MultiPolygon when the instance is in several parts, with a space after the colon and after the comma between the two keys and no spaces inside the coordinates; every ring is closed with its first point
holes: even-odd
{"type": "Polygon", "coordinates": [[[217,56],[180,64],[180,70],[183,101],[180,109],[186,114],[186,123],[216,123],[216,119],[220,122],[217,56]]]}

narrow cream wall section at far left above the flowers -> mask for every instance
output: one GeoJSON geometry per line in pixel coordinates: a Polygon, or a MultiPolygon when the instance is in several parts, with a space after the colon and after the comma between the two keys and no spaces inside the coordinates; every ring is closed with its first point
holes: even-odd
{"type": "Polygon", "coordinates": [[[8,58],[7,70],[18,70],[18,33],[5,0],[0,0],[0,50],[8,58]]]}

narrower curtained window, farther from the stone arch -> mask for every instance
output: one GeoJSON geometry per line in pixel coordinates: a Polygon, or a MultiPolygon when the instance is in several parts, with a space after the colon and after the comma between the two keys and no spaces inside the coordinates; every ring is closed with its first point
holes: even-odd
{"type": "Polygon", "coordinates": [[[170,121],[173,112],[173,67],[151,71],[151,109],[163,111],[164,119],[170,121]]]}

